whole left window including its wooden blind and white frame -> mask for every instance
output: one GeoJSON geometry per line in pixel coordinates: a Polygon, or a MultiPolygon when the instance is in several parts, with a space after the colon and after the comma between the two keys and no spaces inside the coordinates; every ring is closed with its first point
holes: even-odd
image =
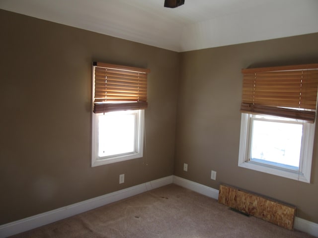
{"type": "Polygon", "coordinates": [[[92,166],[143,157],[149,72],[93,63],[92,166]]]}

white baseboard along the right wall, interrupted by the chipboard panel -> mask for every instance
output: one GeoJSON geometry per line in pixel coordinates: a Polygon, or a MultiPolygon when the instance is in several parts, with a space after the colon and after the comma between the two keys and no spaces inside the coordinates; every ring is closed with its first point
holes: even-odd
{"type": "MultiPolygon", "coordinates": [[[[173,176],[173,183],[188,188],[190,190],[196,191],[208,197],[218,199],[219,190],[205,186],[203,184],[193,182],[187,179],[182,179],[177,176],[173,176]]],[[[318,224],[314,222],[307,221],[305,219],[295,217],[294,229],[302,232],[306,232],[312,236],[318,237],[318,224]]]]}

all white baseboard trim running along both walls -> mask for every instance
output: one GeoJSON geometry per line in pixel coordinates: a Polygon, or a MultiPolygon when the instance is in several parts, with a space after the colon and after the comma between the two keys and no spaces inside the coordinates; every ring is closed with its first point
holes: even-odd
{"type": "MultiPolygon", "coordinates": [[[[0,238],[13,236],[40,226],[47,225],[58,220],[77,215],[88,210],[119,201],[121,199],[137,195],[148,190],[152,190],[170,183],[188,188],[195,192],[201,193],[208,197],[218,199],[219,190],[205,186],[203,184],[183,179],[177,176],[168,176],[156,179],[150,182],[139,184],[133,187],[125,188],[116,192],[108,193],[99,197],[88,199],[69,206],[58,208],[49,212],[41,213],[32,217],[27,217],[15,222],[7,223],[0,226],[0,238]]],[[[312,236],[318,237],[318,224],[302,218],[296,217],[294,228],[306,232],[312,236]]]]}

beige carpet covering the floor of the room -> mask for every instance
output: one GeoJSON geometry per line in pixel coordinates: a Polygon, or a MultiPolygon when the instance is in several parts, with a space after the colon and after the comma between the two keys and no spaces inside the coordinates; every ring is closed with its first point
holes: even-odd
{"type": "Polygon", "coordinates": [[[170,184],[14,238],[313,238],[170,184]]]}

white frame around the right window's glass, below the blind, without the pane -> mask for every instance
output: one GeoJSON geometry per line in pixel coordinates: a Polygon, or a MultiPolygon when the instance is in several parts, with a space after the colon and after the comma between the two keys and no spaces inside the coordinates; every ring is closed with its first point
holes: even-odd
{"type": "Polygon", "coordinates": [[[303,124],[299,171],[249,161],[250,123],[251,114],[242,113],[239,137],[239,167],[310,183],[316,123],[304,122],[303,124]]]}

